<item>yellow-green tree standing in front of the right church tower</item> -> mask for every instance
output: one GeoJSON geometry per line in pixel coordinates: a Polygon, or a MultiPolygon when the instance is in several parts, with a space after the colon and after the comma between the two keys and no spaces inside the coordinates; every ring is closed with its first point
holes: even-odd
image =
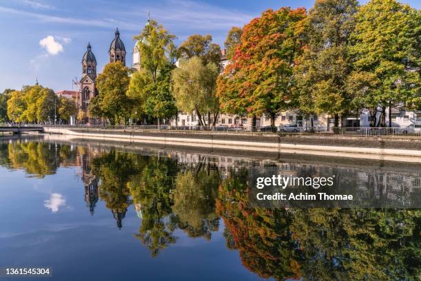
{"type": "Polygon", "coordinates": [[[94,116],[108,118],[111,125],[118,123],[120,118],[127,120],[131,113],[131,100],[126,95],[129,88],[129,70],[120,61],[105,65],[104,71],[99,74],[97,87],[99,95],[96,96],[99,105],[98,112],[91,112],[94,116]]]}

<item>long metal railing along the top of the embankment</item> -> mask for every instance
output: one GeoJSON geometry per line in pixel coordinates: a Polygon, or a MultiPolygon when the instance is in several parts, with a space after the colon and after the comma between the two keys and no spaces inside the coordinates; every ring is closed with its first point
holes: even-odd
{"type": "Polygon", "coordinates": [[[72,129],[126,129],[140,131],[173,131],[173,132],[258,132],[288,135],[344,135],[344,136],[418,136],[421,137],[421,127],[297,127],[297,126],[171,126],[171,125],[41,125],[24,124],[1,126],[13,127],[61,127],[72,129]]]}

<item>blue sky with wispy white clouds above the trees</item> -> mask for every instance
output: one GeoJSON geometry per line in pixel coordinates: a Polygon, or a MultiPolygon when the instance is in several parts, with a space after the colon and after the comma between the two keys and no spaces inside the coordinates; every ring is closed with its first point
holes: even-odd
{"type": "MultiPolygon", "coordinates": [[[[363,1],[365,2],[365,1],[363,1]]],[[[421,0],[405,1],[420,8],[421,0]]],[[[72,90],[83,53],[92,45],[101,72],[118,27],[131,63],[133,36],[151,18],[175,34],[211,34],[222,44],[233,25],[244,25],[268,8],[310,8],[313,0],[0,0],[0,92],[35,79],[54,90],[72,90]]]]}

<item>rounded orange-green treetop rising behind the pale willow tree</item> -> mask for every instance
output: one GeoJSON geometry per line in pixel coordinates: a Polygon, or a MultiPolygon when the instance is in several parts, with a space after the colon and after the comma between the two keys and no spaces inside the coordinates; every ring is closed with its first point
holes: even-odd
{"type": "Polygon", "coordinates": [[[212,36],[206,34],[193,34],[184,41],[178,48],[180,59],[191,59],[198,56],[202,59],[202,63],[215,63],[219,66],[221,62],[221,48],[218,44],[212,43],[212,36]]]}

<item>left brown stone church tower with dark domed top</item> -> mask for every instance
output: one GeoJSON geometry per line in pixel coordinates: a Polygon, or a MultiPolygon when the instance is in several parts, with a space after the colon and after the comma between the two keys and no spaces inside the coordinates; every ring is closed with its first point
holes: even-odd
{"type": "Polygon", "coordinates": [[[87,110],[91,98],[96,96],[96,59],[88,43],[87,51],[82,59],[82,78],[80,79],[80,104],[82,110],[87,110]]]}

